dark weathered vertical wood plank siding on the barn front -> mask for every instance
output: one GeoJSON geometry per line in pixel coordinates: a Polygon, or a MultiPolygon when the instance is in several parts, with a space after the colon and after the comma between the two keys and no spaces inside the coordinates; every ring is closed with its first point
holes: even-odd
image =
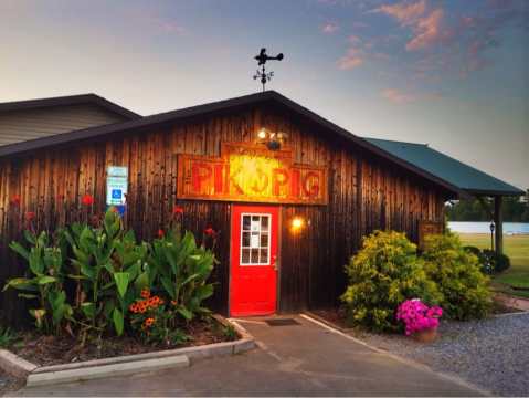
{"type": "MultiPolygon", "coordinates": [[[[241,108],[0,160],[0,282],[23,272],[8,243],[21,238],[27,211],[36,212],[39,229],[50,230],[87,217],[80,210],[84,193],[94,195],[95,211],[103,211],[106,167],[128,166],[125,223],[139,239],[150,239],[169,221],[178,200],[177,155],[220,156],[221,142],[252,142],[262,126],[288,134],[296,163],[329,168],[328,206],[282,206],[282,311],[332,304],[343,291],[343,264],[362,235],[388,228],[416,240],[419,220],[442,220],[446,192],[441,188],[282,109],[241,108]],[[14,195],[21,197],[20,210],[9,203],[14,195]],[[310,222],[299,234],[288,229],[294,216],[310,222]]],[[[184,227],[199,239],[208,222],[221,231],[213,305],[226,312],[231,203],[179,203],[184,227]]],[[[9,318],[20,316],[15,294],[1,295],[0,303],[9,318]]]]}

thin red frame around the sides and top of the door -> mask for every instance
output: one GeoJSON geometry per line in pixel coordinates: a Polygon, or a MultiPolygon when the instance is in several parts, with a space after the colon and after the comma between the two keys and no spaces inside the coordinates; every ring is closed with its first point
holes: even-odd
{"type": "Polygon", "coordinates": [[[232,290],[232,258],[234,255],[232,251],[232,224],[233,224],[233,209],[239,206],[248,206],[248,207],[277,207],[277,254],[276,254],[276,263],[278,261],[277,265],[277,274],[276,274],[276,301],[275,301],[275,312],[278,313],[281,305],[281,274],[282,274],[282,268],[283,268],[283,262],[281,258],[282,253],[282,220],[283,220],[283,206],[276,205],[276,203],[256,203],[256,202],[232,202],[230,205],[230,244],[229,244],[229,264],[228,264],[228,308],[226,313],[228,316],[232,316],[231,314],[231,301],[232,301],[232,295],[231,295],[231,290],[232,290]]]}

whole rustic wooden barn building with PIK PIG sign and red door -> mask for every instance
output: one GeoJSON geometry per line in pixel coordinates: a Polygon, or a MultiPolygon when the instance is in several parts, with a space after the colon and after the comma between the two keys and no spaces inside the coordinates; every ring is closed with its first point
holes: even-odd
{"type": "MultiPolygon", "coordinates": [[[[8,248],[23,214],[53,229],[82,217],[86,193],[94,211],[121,205],[139,239],[176,205],[198,237],[212,226],[214,306],[241,316],[332,305],[363,235],[417,241],[468,196],[497,198],[500,227],[501,197],[522,191],[425,145],[358,137],[273,91],[146,117],[94,95],[0,104],[0,283],[23,272],[8,248]]],[[[0,304],[8,317],[21,305],[0,304]]]]}

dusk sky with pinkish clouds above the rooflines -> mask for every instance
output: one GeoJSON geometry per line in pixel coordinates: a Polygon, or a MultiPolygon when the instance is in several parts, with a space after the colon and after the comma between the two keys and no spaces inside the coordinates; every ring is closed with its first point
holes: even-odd
{"type": "Polygon", "coordinates": [[[0,102],[94,92],[142,115],[268,85],[366,137],[529,187],[529,1],[0,0],[0,102]]]}

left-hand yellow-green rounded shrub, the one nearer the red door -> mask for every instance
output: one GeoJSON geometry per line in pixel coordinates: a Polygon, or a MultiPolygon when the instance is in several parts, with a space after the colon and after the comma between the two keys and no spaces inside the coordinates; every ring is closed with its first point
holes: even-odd
{"type": "Polygon", "coordinates": [[[395,311],[404,300],[437,304],[442,298],[404,233],[375,231],[363,238],[346,272],[349,284],[341,300],[348,323],[372,331],[398,329],[395,311]]]}

